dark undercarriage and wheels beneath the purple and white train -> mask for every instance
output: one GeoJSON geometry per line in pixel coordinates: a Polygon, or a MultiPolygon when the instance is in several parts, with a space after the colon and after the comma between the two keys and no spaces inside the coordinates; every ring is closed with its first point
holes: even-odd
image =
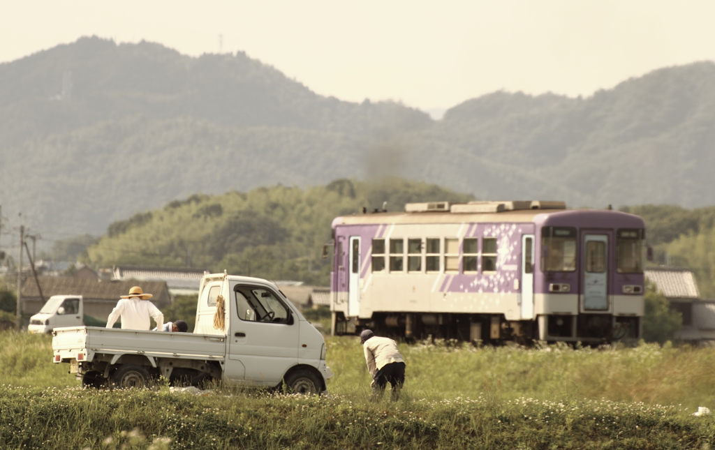
{"type": "Polygon", "coordinates": [[[378,336],[403,341],[455,339],[499,345],[508,341],[529,345],[536,341],[608,344],[641,336],[637,316],[612,314],[543,315],[531,321],[508,321],[503,314],[375,312],[370,319],[345,318],[333,312],[333,334],[360,334],[372,329],[378,336]]]}

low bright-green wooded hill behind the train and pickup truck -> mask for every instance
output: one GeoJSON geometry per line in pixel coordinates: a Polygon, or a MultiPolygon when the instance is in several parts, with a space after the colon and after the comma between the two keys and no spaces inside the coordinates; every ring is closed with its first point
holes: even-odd
{"type": "Polygon", "coordinates": [[[278,185],[246,193],[197,194],[114,222],[84,259],[104,267],[193,266],[327,285],[330,259],[322,259],[322,246],[331,239],[336,216],[362,214],[363,207],[381,209],[385,201],[403,209],[410,201],[470,199],[400,179],[339,179],[308,189],[278,185]]]}

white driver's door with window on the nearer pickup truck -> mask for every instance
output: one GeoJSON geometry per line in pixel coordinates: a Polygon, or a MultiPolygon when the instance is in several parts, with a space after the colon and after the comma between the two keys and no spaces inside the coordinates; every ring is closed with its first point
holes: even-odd
{"type": "Polygon", "coordinates": [[[235,284],[230,292],[230,332],[227,360],[245,369],[243,379],[253,386],[275,386],[298,362],[300,327],[287,300],[268,286],[235,284]]]}

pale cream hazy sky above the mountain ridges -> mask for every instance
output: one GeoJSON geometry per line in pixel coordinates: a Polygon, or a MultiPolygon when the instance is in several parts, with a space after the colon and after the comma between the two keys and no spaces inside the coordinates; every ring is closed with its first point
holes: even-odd
{"type": "Polygon", "coordinates": [[[0,61],[92,34],[145,39],[246,51],[318,94],[432,109],[499,89],[588,96],[715,59],[714,18],[712,0],[24,0],[3,7],[0,61]]]}

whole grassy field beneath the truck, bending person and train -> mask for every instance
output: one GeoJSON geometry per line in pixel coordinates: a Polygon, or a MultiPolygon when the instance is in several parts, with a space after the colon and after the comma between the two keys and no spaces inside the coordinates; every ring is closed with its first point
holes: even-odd
{"type": "MultiPolygon", "coordinates": [[[[400,401],[369,401],[355,338],[327,338],[330,397],[216,386],[91,391],[47,336],[0,334],[2,449],[706,449],[715,349],[400,346],[400,401]],[[122,447],[124,446],[124,447],[122,447]]],[[[715,410],[715,407],[713,408],[715,410]]]]}

